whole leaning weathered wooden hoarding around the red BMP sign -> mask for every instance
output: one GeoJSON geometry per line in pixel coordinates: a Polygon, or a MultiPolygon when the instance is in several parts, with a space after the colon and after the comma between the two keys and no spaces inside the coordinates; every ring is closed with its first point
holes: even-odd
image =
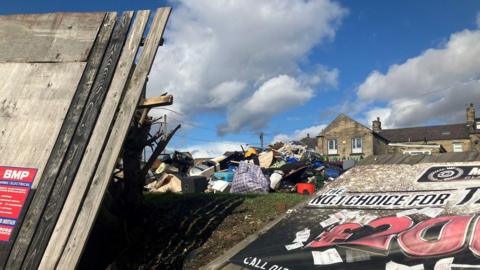
{"type": "Polygon", "coordinates": [[[149,11],[0,16],[0,169],[36,172],[0,269],[77,266],[170,11],[157,10],[136,68],[149,11]]]}

